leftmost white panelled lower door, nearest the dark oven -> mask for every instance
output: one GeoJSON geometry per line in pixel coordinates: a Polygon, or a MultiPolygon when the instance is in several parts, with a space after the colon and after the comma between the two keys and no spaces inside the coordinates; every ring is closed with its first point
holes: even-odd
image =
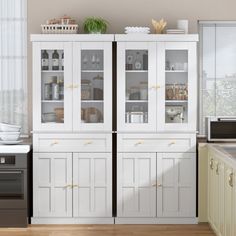
{"type": "Polygon", "coordinates": [[[33,154],[33,216],[72,217],[72,154],[33,154]]]}

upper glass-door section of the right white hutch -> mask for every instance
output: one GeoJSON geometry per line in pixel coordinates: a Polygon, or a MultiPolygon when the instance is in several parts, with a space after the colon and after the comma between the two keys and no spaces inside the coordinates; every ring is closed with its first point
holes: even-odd
{"type": "Polygon", "coordinates": [[[115,38],[118,131],[196,131],[198,36],[115,38]]]}

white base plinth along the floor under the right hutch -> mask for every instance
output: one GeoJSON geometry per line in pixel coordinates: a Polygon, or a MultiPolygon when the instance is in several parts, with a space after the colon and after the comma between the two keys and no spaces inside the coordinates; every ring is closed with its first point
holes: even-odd
{"type": "Polygon", "coordinates": [[[198,218],[129,218],[117,217],[115,224],[198,224],[198,218]]]}

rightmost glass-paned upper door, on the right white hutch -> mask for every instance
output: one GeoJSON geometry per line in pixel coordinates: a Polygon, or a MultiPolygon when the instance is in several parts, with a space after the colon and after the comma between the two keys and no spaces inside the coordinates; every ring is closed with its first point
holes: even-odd
{"type": "Polygon", "coordinates": [[[161,86],[164,98],[159,98],[164,101],[164,129],[184,131],[184,128],[191,128],[196,119],[196,61],[193,54],[194,47],[189,43],[165,43],[164,86],[161,86]]]}

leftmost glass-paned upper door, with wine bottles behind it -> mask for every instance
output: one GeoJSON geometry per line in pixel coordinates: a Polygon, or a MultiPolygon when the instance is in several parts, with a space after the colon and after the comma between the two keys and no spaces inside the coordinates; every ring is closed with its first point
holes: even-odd
{"type": "Polygon", "coordinates": [[[38,78],[34,81],[34,97],[38,99],[34,103],[35,129],[70,130],[73,87],[71,45],[41,43],[38,46],[34,68],[34,78],[38,78]]]}

